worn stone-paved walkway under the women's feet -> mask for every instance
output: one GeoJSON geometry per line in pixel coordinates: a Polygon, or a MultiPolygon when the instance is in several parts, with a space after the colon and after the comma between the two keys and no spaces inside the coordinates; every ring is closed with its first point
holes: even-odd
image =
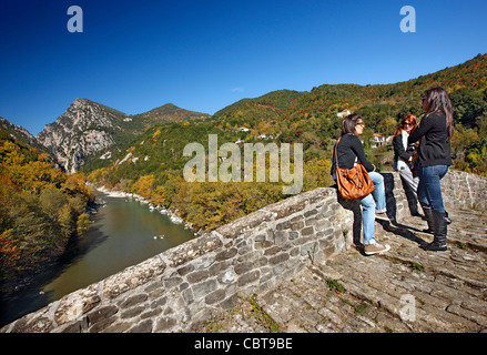
{"type": "Polygon", "coordinates": [[[268,292],[240,298],[196,332],[487,332],[487,214],[449,211],[448,251],[425,252],[426,222],[376,222],[384,255],[351,247],[268,292]]]}

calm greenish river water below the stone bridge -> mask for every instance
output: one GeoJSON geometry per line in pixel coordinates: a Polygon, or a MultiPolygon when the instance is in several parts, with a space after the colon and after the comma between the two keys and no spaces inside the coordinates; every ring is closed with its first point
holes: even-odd
{"type": "Polygon", "coordinates": [[[0,326],[194,237],[183,224],[135,199],[101,194],[82,240],[27,288],[0,303],[0,326]]]}

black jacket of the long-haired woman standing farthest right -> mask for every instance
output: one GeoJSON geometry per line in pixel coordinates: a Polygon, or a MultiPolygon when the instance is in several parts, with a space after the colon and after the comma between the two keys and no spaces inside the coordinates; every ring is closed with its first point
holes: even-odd
{"type": "Polygon", "coordinates": [[[422,166],[453,165],[452,144],[447,142],[446,119],[438,113],[425,116],[409,135],[408,143],[419,139],[419,164],[422,166]]]}

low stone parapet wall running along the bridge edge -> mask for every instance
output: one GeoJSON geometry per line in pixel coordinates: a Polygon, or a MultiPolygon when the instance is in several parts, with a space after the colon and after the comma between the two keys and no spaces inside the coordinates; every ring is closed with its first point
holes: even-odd
{"type": "MultiPolygon", "coordinates": [[[[384,173],[387,214],[415,209],[397,173],[384,173]]],[[[485,206],[487,179],[452,172],[448,203],[485,206]],[[478,186],[478,187],[475,187],[478,186]],[[475,191],[475,193],[474,193],[475,191]]],[[[312,261],[345,251],[361,237],[357,202],[333,187],[288,197],[65,295],[0,332],[186,332],[288,280],[312,261]]]]}

